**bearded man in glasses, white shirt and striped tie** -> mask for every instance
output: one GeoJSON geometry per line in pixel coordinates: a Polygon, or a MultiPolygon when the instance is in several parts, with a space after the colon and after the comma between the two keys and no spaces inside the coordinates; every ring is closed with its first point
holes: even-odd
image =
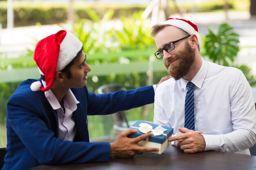
{"type": "Polygon", "coordinates": [[[157,58],[173,78],[155,92],[154,122],[174,128],[169,139],[187,153],[216,150],[250,155],[256,143],[252,90],[237,68],[204,61],[198,27],[169,18],[152,27],[157,58]]]}

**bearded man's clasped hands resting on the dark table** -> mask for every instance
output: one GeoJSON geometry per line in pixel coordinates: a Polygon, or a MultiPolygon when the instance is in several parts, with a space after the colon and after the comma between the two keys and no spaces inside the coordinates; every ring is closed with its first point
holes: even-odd
{"type": "Polygon", "coordinates": [[[171,141],[175,141],[175,146],[185,153],[196,153],[204,151],[206,144],[201,132],[178,128],[180,131],[171,141]]]}

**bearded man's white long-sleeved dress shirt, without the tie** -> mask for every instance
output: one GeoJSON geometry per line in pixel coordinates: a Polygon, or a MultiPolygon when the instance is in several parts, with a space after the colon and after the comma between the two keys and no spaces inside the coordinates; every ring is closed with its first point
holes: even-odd
{"type": "MultiPolygon", "coordinates": [[[[256,113],[252,89],[242,71],[202,59],[191,80],[195,84],[195,130],[203,132],[205,150],[250,155],[256,143],[256,113]]],[[[154,122],[171,126],[174,134],[184,127],[186,79],[171,78],[155,92],[154,122]]]]}

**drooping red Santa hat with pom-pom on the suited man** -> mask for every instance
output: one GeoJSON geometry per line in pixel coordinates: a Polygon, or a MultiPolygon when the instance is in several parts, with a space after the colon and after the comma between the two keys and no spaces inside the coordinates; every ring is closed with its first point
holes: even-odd
{"type": "Polygon", "coordinates": [[[61,30],[52,34],[36,44],[33,55],[39,71],[45,75],[46,86],[40,82],[34,82],[30,88],[32,91],[48,91],[54,83],[56,71],[61,71],[69,64],[82,49],[82,42],[73,34],[61,30]]]}

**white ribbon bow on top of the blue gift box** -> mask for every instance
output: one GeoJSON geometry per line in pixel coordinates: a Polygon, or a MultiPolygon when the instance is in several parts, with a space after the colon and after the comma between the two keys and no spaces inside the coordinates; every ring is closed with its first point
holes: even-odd
{"type": "Polygon", "coordinates": [[[141,131],[142,133],[148,133],[148,132],[152,132],[154,136],[159,136],[159,135],[166,135],[164,134],[164,131],[166,131],[167,129],[163,128],[162,126],[157,126],[155,129],[153,129],[153,127],[150,124],[146,124],[146,123],[141,123],[139,124],[139,131],[141,131]]]}

